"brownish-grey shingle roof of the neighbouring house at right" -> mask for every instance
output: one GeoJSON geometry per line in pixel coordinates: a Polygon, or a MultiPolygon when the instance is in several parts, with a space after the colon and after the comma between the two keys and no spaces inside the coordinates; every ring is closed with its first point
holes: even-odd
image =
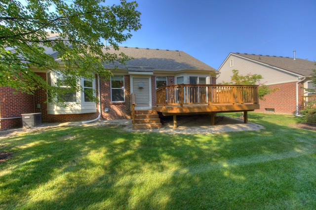
{"type": "Polygon", "coordinates": [[[241,54],[232,53],[239,55],[251,60],[255,60],[270,66],[274,66],[283,70],[288,70],[294,73],[301,74],[303,76],[310,76],[313,73],[313,69],[316,69],[315,62],[308,61],[300,58],[288,58],[288,57],[277,57],[267,55],[254,55],[254,54],[241,54]]]}

